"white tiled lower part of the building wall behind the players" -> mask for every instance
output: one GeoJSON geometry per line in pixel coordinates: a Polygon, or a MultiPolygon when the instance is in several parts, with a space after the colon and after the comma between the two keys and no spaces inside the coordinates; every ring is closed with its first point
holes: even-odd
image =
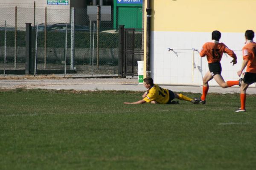
{"type": "MultiPolygon", "coordinates": [[[[211,32],[151,32],[151,77],[158,84],[202,85],[204,74],[209,71],[206,57],[200,57],[198,51],[205,42],[211,41],[211,32]],[[168,48],[173,49],[169,51],[168,48]],[[194,54],[193,48],[198,49],[194,54]]],[[[221,60],[222,73],[225,81],[238,80],[236,72],[241,68],[241,49],[244,45],[243,33],[222,32],[220,42],[233,50],[238,63],[232,65],[232,57],[224,54],[221,60]]],[[[211,80],[209,85],[218,85],[211,80]]]]}

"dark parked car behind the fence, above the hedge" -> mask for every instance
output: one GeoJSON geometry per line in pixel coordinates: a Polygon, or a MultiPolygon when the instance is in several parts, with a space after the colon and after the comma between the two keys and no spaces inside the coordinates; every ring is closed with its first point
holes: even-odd
{"type": "MultiPolygon", "coordinates": [[[[47,31],[52,32],[64,32],[66,31],[66,24],[65,23],[47,23],[47,31]]],[[[38,25],[38,31],[44,31],[44,23],[38,25]]],[[[71,24],[67,24],[67,31],[71,30],[71,24]]],[[[79,24],[75,24],[75,31],[90,31],[88,26],[82,26],[79,24]]]]}

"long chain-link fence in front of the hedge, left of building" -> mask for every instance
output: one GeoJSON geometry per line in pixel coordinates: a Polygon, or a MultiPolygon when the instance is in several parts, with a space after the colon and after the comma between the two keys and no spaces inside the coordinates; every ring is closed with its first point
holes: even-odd
{"type": "MultiPolygon", "coordinates": [[[[97,23],[89,20],[87,9],[75,8],[72,48],[70,8],[0,7],[0,70],[4,67],[6,70],[25,69],[26,23],[32,23],[35,26],[33,29],[38,29],[38,70],[64,70],[66,53],[67,69],[74,69],[76,75],[117,75],[119,30],[118,26],[113,26],[113,9],[111,10],[111,20],[97,23]]],[[[140,35],[136,36],[136,48],[143,48],[143,32],[137,34],[140,35]]],[[[136,58],[143,59],[142,55],[136,58]]]]}

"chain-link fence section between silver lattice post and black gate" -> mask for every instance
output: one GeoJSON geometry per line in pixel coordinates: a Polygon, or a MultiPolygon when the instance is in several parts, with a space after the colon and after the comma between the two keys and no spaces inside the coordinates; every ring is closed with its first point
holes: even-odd
{"type": "Polygon", "coordinates": [[[75,23],[89,32],[75,31],[75,65],[81,74],[118,74],[119,34],[111,21],[90,21],[87,9],[75,9],[75,23]],[[99,28],[98,28],[99,26],[99,28]]]}

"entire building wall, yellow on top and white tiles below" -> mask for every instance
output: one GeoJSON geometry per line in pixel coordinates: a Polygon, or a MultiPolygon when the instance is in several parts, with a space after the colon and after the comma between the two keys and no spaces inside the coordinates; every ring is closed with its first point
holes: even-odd
{"type": "MultiPolygon", "coordinates": [[[[145,0],[147,4],[148,0],[145,0]]],[[[202,85],[208,71],[207,59],[195,52],[193,69],[192,48],[200,50],[211,41],[211,32],[221,31],[224,42],[238,56],[238,63],[231,57],[222,57],[222,76],[225,81],[238,80],[241,68],[241,49],[244,32],[256,31],[255,0],[151,0],[151,76],[158,84],[202,85]],[[228,7],[228,8],[227,8],[228,7]],[[177,55],[167,48],[174,49],[177,55]],[[202,71],[201,71],[202,69],[202,71]],[[193,76],[194,73],[194,76],[193,76]],[[193,77],[192,77],[193,76],[193,77]]],[[[147,6],[144,7],[146,11],[147,6]]],[[[146,12],[144,28],[146,28],[146,12]]],[[[146,66],[146,30],[144,30],[144,68],[146,66]]],[[[144,69],[144,76],[146,76],[144,69]]],[[[215,80],[210,85],[217,85],[215,80]]]]}

